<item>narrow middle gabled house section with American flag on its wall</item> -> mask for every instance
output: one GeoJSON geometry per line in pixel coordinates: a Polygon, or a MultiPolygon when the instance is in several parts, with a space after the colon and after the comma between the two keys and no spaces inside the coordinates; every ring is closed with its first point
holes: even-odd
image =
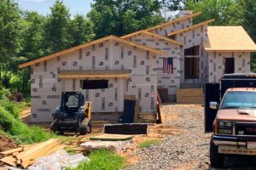
{"type": "Polygon", "coordinates": [[[180,85],[180,48],[182,43],[149,31],[137,31],[122,38],[165,52],[166,57],[157,58],[157,88],[163,103],[175,101],[180,85]]]}

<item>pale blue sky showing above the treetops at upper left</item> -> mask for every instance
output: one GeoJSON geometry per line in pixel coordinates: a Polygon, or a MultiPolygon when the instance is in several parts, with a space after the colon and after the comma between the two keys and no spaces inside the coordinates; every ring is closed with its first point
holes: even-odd
{"type": "MultiPolygon", "coordinates": [[[[20,8],[28,11],[37,11],[39,14],[49,14],[55,0],[18,0],[20,8]]],[[[87,14],[90,11],[90,3],[93,0],[63,0],[72,15],[87,14]]]]}

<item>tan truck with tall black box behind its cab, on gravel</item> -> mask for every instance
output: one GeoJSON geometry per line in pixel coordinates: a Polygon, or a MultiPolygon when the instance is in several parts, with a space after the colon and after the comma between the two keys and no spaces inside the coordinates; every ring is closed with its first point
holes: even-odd
{"type": "Polygon", "coordinates": [[[205,131],[212,132],[210,161],[224,156],[256,156],[256,74],[227,74],[205,86],[205,131]]]}

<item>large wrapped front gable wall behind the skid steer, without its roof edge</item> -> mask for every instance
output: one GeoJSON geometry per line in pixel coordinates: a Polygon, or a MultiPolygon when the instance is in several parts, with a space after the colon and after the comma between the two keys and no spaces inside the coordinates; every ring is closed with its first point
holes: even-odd
{"type": "Polygon", "coordinates": [[[156,111],[157,56],[122,42],[109,40],[32,65],[31,78],[32,122],[51,122],[64,90],[82,91],[93,112],[123,111],[125,94],[137,96],[141,111],[156,111]],[[130,70],[130,78],[110,78],[112,88],[87,91],[80,89],[79,79],[58,78],[64,70],[108,69],[130,70]]]}

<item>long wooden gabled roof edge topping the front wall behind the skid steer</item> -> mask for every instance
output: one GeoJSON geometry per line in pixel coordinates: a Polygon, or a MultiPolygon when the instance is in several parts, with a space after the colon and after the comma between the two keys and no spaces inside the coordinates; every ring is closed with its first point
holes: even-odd
{"type": "Polygon", "coordinates": [[[42,61],[45,61],[45,60],[48,60],[48,59],[54,59],[57,56],[60,56],[60,55],[63,55],[63,54],[69,54],[69,53],[77,51],[77,50],[79,50],[81,48],[86,48],[86,47],[89,47],[89,46],[94,45],[96,43],[104,42],[104,41],[107,41],[107,40],[116,40],[116,41],[119,41],[119,42],[124,42],[126,44],[129,44],[129,45],[137,47],[137,48],[148,50],[148,51],[150,51],[150,52],[152,52],[154,54],[161,54],[161,55],[164,55],[164,56],[167,55],[166,53],[164,53],[162,51],[156,50],[154,48],[148,48],[148,47],[143,46],[141,44],[138,44],[138,43],[135,43],[135,42],[131,42],[131,41],[122,39],[120,37],[108,36],[108,37],[102,37],[100,39],[97,39],[97,40],[94,40],[94,41],[91,41],[91,42],[86,42],[86,43],[84,43],[82,45],[79,45],[79,46],[76,46],[76,47],[73,47],[73,48],[68,48],[68,49],[62,50],[62,51],[57,52],[55,54],[49,54],[47,56],[40,57],[40,58],[34,59],[32,61],[28,61],[26,63],[20,64],[19,68],[24,68],[24,67],[29,66],[29,65],[34,65],[36,63],[39,63],[39,62],[42,62],[42,61]]]}

